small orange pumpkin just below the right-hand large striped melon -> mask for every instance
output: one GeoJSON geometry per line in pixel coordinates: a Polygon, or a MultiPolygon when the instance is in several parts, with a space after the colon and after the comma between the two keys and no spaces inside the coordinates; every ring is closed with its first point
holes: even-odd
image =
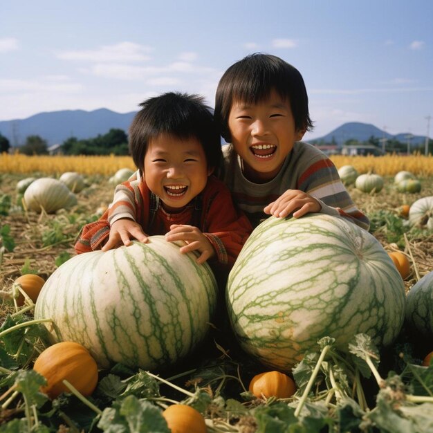
{"type": "Polygon", "coordinates": [[[276,397],[288,398],[296,391],[295,382],[286,374],[279,371],[267,371],[257,374],[251,379],[248,388],[257,398],[276,397]]]}

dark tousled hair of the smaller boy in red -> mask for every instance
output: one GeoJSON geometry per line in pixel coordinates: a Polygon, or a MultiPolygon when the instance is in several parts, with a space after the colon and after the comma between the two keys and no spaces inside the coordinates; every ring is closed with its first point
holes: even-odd
{"type": "Polygon", "coordinates": [[[181,140],[197,138],[205,151],[208,167],[219,168],[223,158],[221,136],[210,107],[201,96],[168,92],[145,100],[140,107],[129,127],[129,151],[140,174],[149,141],[161,133],[181,140]]]}

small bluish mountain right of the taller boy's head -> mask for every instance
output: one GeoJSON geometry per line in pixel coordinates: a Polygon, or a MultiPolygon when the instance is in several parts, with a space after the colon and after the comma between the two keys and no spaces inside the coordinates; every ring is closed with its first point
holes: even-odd
{"type": "MultiPolygon", "coordinates": [[[[400,142],[407,142],[408,132],[398,133],[393,136],[386,131],[382,131],[378,127],[374,125],[370,125],[368,123],[360,123],[360,122],[348,122],[344,123],[337,129],[334,129],[330,133],[327,133],[326,136],[322,136],[320,138],[313,138],[308,140],[311,143],[320,143],[320,142],[335,142],[338,146],[342,146],[344,142],[347,140],[358,140],[360,142],[369,140],[370,137],[375,138],[387,138],[394,139],[400,142]]],[[[425,143],[425,136],[412,136],[410,134],[411,145],[419,146],[425,143]]]]}

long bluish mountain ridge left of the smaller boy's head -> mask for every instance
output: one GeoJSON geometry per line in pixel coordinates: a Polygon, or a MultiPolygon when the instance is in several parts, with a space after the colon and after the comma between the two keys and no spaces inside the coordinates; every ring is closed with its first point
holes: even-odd
{"type": "Polygon", "coordinates": [[[121,114],[108,109],[51,111],[22,120],[3,120],[0,133],[8,138],[11,146],[24,145],[28,136],[39,136],[49,147],[62,144],[70,137],[95,138],[112,128],[127,132],[135,114],[135,111],[121,114]]]}

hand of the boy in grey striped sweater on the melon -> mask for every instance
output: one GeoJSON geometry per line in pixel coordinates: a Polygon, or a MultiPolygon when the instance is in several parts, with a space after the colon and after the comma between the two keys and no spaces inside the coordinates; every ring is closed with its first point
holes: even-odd
{"type": "Polygon", "coordinates": [[[293,212],[293,218],[311,212],[320,212],[322,206],[312,196],[300,190],[287,190],[277,200],[269,203],[265,208],[265,214],[284,218],[293,212]]]}

